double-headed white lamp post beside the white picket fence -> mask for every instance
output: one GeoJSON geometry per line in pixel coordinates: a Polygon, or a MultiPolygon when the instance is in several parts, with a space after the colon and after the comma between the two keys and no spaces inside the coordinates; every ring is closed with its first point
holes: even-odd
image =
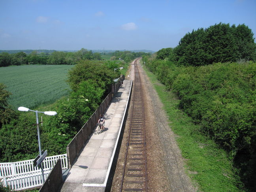
{"type": "MultiPolygon", "coordinates": [[[[19,107],[18,110],[19,111],[34,111],[34,110],[28,109],[26,107],[19,107]]],[[[37,129],[38,129],[39,154],[40,154],[40,156],[42,156],[38,113],[44,113],[45,115],[54,116],[54,115],[57,115],[57,112],[56,111],[44,111],[44,112],[42,112],[42,111],[34,111],[34,112],[36,112],[36,125],[37,125],[37,129]]],[[[43,183],[44,183],[45,180],[44,180],[43,164],[42,163],[41,163],[41,170],[42,170],[42,180],[43,180],[43,183]]]]}

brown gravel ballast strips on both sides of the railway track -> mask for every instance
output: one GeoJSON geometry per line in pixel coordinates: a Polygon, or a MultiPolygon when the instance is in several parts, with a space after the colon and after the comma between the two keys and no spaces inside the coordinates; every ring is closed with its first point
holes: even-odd
{"type": "MultiPolygon", "coordinates": [[[[175,134],[168,127],[168,118],[158,94],[154,90],[149,78],[139,64],[143,95],[145,101],[146,119],[146,154],[148,192],[196,192],[190,178],[184,170],[184,159],[175,141],[175,134]]],[[[134,79],[134,65],[131,63],[129,77],[134,79]]],[[[130,104],[130,108],[131,108],[130,104]]],[[[128,137],[130,108],[124,128],[119,156],[115,167],[111,192],[120,190],[122,168],[124,165],[124,151],[128,137]]]]}

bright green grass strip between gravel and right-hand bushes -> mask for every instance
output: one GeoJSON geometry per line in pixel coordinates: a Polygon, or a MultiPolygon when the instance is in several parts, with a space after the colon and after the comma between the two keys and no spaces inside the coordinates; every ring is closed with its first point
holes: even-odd
{"type": "Polygon", "coordinates": [[[235,174],[228,154],[200,133],[190,117],[178,109],[179,100],[159,83],[156,76],[144,68],[152,85],[158,92],[164,110],[169,117],[169,126],[177,135],[177,143],[186,159],[186,171],[193,183],[203,192],[241,192],[239,177],[235,174]]]}

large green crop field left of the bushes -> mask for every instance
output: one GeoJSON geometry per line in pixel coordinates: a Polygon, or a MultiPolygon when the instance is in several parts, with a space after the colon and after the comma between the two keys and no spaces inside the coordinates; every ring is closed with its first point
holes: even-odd
{"type": "Polygon", "coordinates": [[[13,109],[23,106],[33,109],[51,104],[68,94],[66,83],[72,65],[26,65],[0,68],[0,83],[12,93],[9,104],[13,109]]]}

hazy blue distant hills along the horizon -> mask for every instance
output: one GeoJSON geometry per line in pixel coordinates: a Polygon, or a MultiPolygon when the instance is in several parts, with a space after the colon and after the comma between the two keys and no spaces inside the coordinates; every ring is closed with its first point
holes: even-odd
{"type": "MultiPolygon", "coordinates": [[[[90,49],[87,49],[90,51],[90,49]]],[[[47,50],[47,49],[26,49],[26,50],[0,50],[0,53],[9,53],[9,54],[13,54],[13,53],[19,53],[19,52],[24,52],[26,54],[31,54],[32,51],[36,51],[38,53],[45,53],[45,54],[51,54],[53,53],[54,51],[63,51],[63,52],[76,52],[76,51],[79,51],[79,50],[47,50]]],[[[151,51],[151,50],[91,50],[92,53],[113,53],[115,51],[131,51],[131,52],[144,52],[144,53],[154,53],[155,51],[151,51]]]]}

